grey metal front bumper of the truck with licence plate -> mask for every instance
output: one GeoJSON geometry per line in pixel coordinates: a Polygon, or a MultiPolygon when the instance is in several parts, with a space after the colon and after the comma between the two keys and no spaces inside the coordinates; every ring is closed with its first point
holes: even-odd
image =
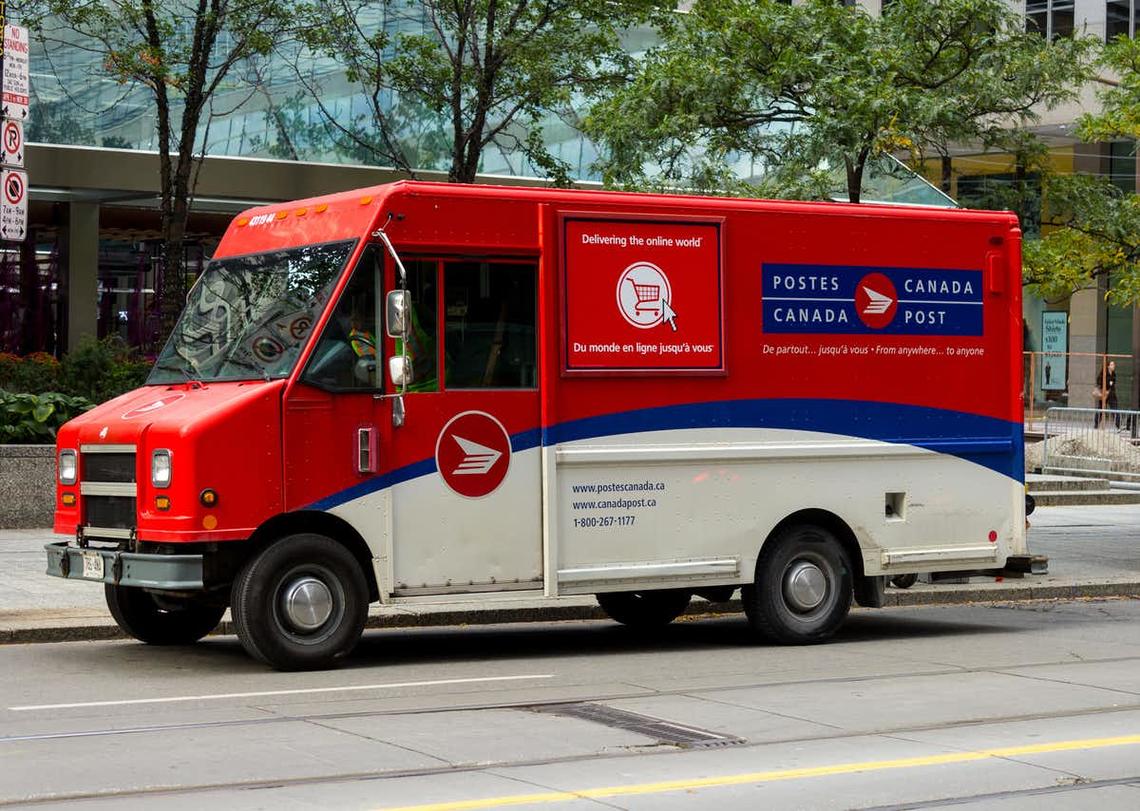
{"type": "Polygon", "coordinates": [[[145,554],[116,549],[82,549],[63,541],[44,545],[48,574],[54,577],[115,585],[201,591],[203,555],[145,554]]]}

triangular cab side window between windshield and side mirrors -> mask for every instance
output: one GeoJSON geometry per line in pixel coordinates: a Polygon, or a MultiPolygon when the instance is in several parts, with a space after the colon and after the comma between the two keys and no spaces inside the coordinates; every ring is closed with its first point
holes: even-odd
{"type": "Polygon", "coordinates": [[[377,295],[380,254],[365,249],[325,324],[302,380],[333,391],[374,391],[380,388],[377,295]]]}

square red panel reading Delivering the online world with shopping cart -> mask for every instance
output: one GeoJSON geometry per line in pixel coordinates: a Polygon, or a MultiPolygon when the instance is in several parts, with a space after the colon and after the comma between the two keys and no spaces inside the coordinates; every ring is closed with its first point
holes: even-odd
{"type": "Polygon", "coordinates": [[[564,370],[724,370],[719,221],[562,219],[564,370]]]}

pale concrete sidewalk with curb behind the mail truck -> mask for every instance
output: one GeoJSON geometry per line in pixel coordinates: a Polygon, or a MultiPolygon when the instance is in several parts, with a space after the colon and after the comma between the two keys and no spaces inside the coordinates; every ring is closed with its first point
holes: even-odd
{"type": "MultiPolygon", "coordinates": [[[[1053,506],[1032,518],[1029,549],[1049,555],[1048,575],[971,578],[968,583],[918,583],[888,589],[888,606],[994,602],[1105,597],[1140,597],[1140,505],[1053,506]]],[[[6,583],[0,597],[0,643],[115,639],[115,625],[95,583],[44,574],[43,545],[62,541],[48,529],[0,530],[0,565],[6,583]]],[[[690,614],[740,610],[740,602],[694,600],[690,614]]],[[[555,603],[511,595],[467,603],[370,607],[368,627],[556,622],[604,618],[593,597],[555,603]],[[488,606],[490,610],[473,609],[488,606]]],[[[229,633],[228,618],[219,627],[229,633]]]]}

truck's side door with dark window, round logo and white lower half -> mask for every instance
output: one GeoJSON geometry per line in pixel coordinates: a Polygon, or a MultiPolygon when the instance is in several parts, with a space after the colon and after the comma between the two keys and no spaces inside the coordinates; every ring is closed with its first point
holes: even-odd
{"type": "Polygon", "coordinates": [[[534,260],[406,260],[405,423],[391,431],[396,594],[540,589],[534,260]]]}

